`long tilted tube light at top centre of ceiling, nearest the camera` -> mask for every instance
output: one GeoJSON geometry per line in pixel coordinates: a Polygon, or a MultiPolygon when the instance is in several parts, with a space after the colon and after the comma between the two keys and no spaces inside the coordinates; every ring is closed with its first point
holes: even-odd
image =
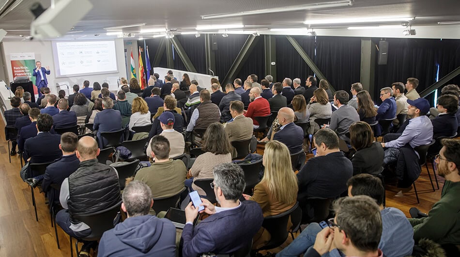
{"type": "Polygon", "coordinates": [[[295,12],[295,11],[302,11],[302,10],[311,11],[311,10],[328,9],[328,8],[336,8],[336,7],[348,7],[352,5],[353,5],[353,2],[351,0],[339,0],[339,1],[330,1],[330,2],[322,2],[322,3],[293,5],[293,6],[288,6],[288,7],[261,9],[261,10],[254,10],[254,11],[245,11],[245,12],[238,12],[238,13],[202,15],[201,19],[216,19],[216,18],[238,17],[238,16],[246,16],[246,15],[285,13],[285,12],[295,12]]]}

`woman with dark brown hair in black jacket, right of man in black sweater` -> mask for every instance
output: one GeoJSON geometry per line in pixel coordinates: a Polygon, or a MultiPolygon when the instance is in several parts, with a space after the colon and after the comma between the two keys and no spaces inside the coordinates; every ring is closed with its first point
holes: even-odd
{"type": "Polygon", "coordinates": [[[378,175],[382,172],[383,148],[379,142],[374,142],[374,133],[368,123],[358,121],[350,126],[350,144],[356,150],[351,159],[353,176],[361,173],[378,175]]]}

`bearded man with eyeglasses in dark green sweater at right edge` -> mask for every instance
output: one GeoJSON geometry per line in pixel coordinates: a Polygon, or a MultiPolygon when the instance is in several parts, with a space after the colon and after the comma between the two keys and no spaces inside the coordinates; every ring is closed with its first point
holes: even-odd
{"type": "Polygon", "coordinates": [[[443,148],[435,159],[438,175],[445,178],[441,200],[433,205],[428,216],[411,209],[413,218],[409,222],[414,227],[415,243],[430,239],[441,244],[449,256],[448,249],[453,248],[453,253],[458,254],[455,246],[460,244],[460,140],[443,139],[441,143],[443,148]]]}

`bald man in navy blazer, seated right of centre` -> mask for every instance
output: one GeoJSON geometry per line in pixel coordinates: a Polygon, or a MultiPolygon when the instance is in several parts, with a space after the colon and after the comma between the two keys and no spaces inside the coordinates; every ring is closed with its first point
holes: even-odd
{"type": "Polygon", "coordinates": [[[304,141],[304,130],[294,124],[294,111],[283,107],[278,111],[278,122],[281,125],[275,133],[273,140],[277,140],[288,146],[291,154],[300,152],[304,141]]]}

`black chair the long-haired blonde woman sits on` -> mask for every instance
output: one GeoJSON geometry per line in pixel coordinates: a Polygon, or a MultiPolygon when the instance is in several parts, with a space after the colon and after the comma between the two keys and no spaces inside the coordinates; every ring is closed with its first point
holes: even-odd
{"type": "Polygon", "coordinates": [[[257,249],[256,251],[273,249],[286,241],[289,235],[289,232],[286,229],[288,226],[289,217],[292,211],[297,209],[298,205],[299,203],[295,203],[291,209],[277,215],[267,216],[263,219],[262,227],[270,233],[271,238],[266,245],[257,249]]]}

